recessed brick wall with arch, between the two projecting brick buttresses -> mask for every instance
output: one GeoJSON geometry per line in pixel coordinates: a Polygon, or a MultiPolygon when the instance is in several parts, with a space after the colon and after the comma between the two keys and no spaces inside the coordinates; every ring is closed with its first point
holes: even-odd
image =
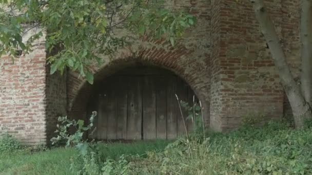
{"type": "MultiPolygon", "coordinates": [[[[210,2],[209,1],[174,1],[170,4],[177,10],[188,11],[198,17],[198,26],[190,29],[172,48],[169,42],[151,41],[143,38],[134,41],[129,48],[119,51],[113,58],[104,57],[101,67],[94,65],[95,79],[102,79],[120,69],[136,63],[157,65],[171,70],[183,78],[202,101],[209,122],[209,57],[210,57],[210,2]]],[[[168,6],[170,6],[168,5],[168,6]]],[[[70,116],[85,118],[86,104],[90,97],[90,86],[78,74],[69,72],[68,106],[70,116]]],[[[95,80],[96,81],[96,80],[95,80]]]]}

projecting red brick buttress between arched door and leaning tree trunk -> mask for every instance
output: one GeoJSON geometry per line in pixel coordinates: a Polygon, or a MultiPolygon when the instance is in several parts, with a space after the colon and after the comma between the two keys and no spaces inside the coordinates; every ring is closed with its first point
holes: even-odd
{"type": "MultiPolygon", "coordinates": [[[[249,1],[212,1],[214,35],[211,123],[216,130],[239,126],[244,115],[279,118],[283,90],[249,1]]],[[[267,1],[280,25],[280,1],[267,1]]],[[[280,27],[277,27],[280,32],[280,27]]]]}

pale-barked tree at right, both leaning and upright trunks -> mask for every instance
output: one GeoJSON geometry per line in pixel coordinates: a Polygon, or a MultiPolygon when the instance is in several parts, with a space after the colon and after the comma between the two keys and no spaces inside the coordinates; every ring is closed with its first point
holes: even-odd
{"type": "Polygon", "coordinates": [[[301,77],[297,84],[263,0],[250,0],[288,97],[297,128],[312,119],[312,0],[301,3],[301,77]]]}

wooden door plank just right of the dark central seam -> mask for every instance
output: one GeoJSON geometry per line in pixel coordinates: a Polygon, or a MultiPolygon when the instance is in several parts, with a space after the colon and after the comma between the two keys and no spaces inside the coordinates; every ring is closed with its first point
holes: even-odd
{"type": "Polygon", "coordinates": [[[156,81],[154,76],[143,77],[143,139],[156,139],[156,81]]]}

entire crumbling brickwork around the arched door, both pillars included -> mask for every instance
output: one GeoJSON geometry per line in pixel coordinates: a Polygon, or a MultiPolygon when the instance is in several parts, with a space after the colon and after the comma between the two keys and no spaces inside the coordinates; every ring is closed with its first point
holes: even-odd
{"type": "MultiPolygon", "coordinates": [[[[169,2],[169,1],[168,1],[169,2]]],[[[299,75],[299,1],[266,1],[295,77],[299,75]]],[[[94,83],[127,67],[156,65],[183,78],[204,106],[206,125],[214,130],[237,128],[245,115],[281,118],[290,114],[269,49],[248,0],[170,1],[168,8],[197,16],[196,27],[179,45],[141,38],[119,50],[103,65],[94,64],[94,83]]],[[[0,132],[29,144],[52,137],[56,118],[85,119],[92,85],[67,71],[50,75],[44,40],[33,53],[13,64],[0,61],[0,132]]]]}

